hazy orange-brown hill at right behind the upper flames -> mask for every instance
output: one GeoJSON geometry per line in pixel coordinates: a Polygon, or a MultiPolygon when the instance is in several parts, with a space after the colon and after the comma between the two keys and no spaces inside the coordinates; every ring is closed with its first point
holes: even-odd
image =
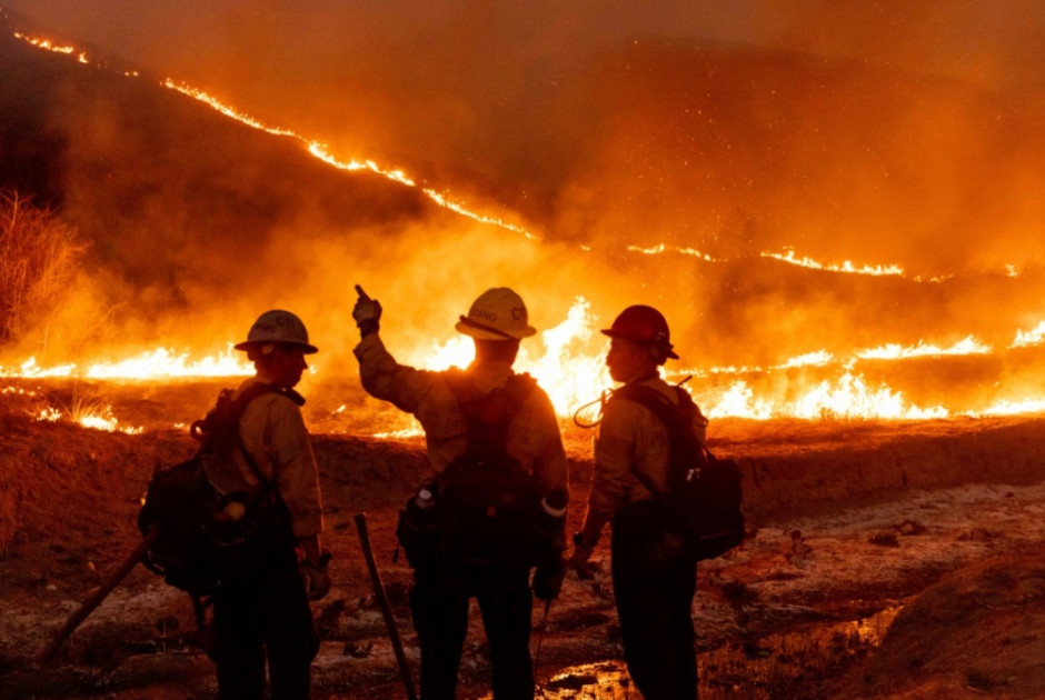
{"type": "Polygon", "coordinates": [[[578,239],[794,247],[919,273],[1019,264],[1045,238],[1042,101],[850,60],[699,41],[607,49],[557,200],[578,239]]]}

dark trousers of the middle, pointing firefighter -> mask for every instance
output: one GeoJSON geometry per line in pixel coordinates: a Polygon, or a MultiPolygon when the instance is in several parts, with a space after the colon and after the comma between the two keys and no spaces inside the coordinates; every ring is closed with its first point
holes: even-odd
{"type": "Polygon", "coordinates": [[[528,570],[487,577],[448,574],[441,566],[414,572],[410,611],[421,647],[421,700],[452,700],[475,597],[490,647],[494,700],[534,698],[530,662],[533,597],[528,570]]]}

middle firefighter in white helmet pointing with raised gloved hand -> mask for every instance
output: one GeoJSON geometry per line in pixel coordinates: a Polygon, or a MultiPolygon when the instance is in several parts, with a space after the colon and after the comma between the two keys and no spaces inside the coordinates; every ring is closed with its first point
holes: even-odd
{"type": "MultiPolygon", "coordinates": [[[[436,537],[429,541],[427,551],[419,551],[417,546],[411,548],[400,534],[400,542],[414,568],[410,610],[421,649],[420,694],[425,700],[455,697],[468,629],[469,601],[476,598],[490,648],[494,698],[531,700],[535,688],[529,653],[533,597],[550,601],[561,587],[565,571],[561,528],[568,491],[566,453],[551,401],[528,376],[512,371],[519,341],[536,333],[528,323],[526,304],[507,288],[485,291],[456,324],[458,332],[475,341],[475,361],[464,371],[456,368],[426,371],[399,364],[389,354],[379,336],[380,304],[359,287],[356,289],[359,298],[352,317],[361,340],[355,354],[359,360],[362,386],[371,396],[390,401],[421,423],[429,469],[422,476],[415,502],[424,506],[435,501],[440,513],[435,524],[436,537]],[[521,390],[516,392],[514,387],[521,390]],[[500,414],[498,420],[504,424],[490,423],[501,426],[500,438],[491,438],[498,433],[496,429],[486,431],[489,434],[477,434],[484,431],[474,429],[478,419],[468,408],[472,401],[462,398],[466,389],[475,404],[490,407],[494,397],[501,397],[512,407],[500,414]],[[512,392],[518,393],[514,401],[510,399],[512,392]],[[459,467],[476,451],[477,441],[486,441],[485,449],[490,452],[507,452],[525,472],[526,481],[536,489],[544,509],[541,512],[558,522],[555,541],[544,552],[543,562],[536,566],[533,592],[529,572],[534,563],[524,551],[525,547],[516,548],[507,541],[514,536],[495,524],[494,520],[490,520],[489,528],[469,529],[454,524],[459,522],[458,517],[464,516],[455,514],[457,507],[450,496],[450,484],[458,483],[457,474],[467,476],[468,470],[459,467]],[[467,549],[462,540],[469,539],[468,536],[491,533],[496,533],[496,538],[504,533],[506,538],[494,542],[499,544],[504,560],[490,562],[479,557],[461,556],[461,551],[467,549]]],[[[481,472],[495,467],[477,462],[471,469],[481,472]]],[[[406,509],[411,510],[416,509],[412,506],[406,509]]],[[[406,524],[415,527],[410,522],[406,524]]],[[[400,532],[404,522],[400,522],[400,532]]]]}

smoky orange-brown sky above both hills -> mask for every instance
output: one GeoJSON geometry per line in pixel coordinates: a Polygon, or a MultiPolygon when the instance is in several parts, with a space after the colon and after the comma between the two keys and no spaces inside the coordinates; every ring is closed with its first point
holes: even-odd
{"type": "Polygon", "coordinates": [[[613,119],[587,101],[607,48],[709,39],[989,89],[1041,86],[1045,58],[1034,3],[989,0],[6,6],[346,152],[553,191],[586,164],[589,128],[613,119]]]}

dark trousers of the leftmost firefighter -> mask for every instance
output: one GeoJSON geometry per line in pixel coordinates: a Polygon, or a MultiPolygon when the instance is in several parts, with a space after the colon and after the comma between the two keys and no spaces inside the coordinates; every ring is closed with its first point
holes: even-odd
{"type": "Polygon", "coordinates": [[[221,700],[260,700],[268,657],[273,700],[302,700],[319,651],[312,611],[293,551],[227,586],[215,599],[215,651],[221,700]]]}

